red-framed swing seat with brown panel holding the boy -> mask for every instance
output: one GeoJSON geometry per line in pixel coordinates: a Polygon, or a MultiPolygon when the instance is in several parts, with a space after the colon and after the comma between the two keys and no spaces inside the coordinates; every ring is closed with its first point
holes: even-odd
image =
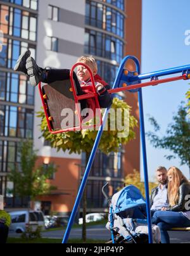
{"type": "Polygon", "coordinates": [[[98,129],[102,124],[101,108],[98,102],[98,94],[95,93],[94,82],[92,82],[92,93],[84,94],[81,93],[82,90],[78,92],[79,89],[77,90],[75,82],[71,78],[73,77],[72,72],[68,80],[56,81],[44,86],[41,86],[41,83],[39,84],[47,127],[52,134],[80,131],[82,129],[98,129]],[[84,97],[84,99],[81,99],[81,97],[84,97]],[[86,114],[82,115],[82,111],[87,108],[87,99],[92,98],[96,105],[97,111],[94,117],[98,120],[98,124],[88,122],[90,115],[89,117],[86,114]]]}

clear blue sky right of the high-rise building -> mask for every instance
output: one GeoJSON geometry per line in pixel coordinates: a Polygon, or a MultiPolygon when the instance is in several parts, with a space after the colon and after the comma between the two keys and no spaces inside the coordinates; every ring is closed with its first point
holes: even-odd
{"type": "MultiPolygon", "coordinates": [[[[141,73],[190,65],[190,1],[189,0],[143,0],[142,62],[141,73]]],[[[178,74],[177,74],[178,75],[178,74]]],[[[179,74],[181,75],[181,74],[179,74]]],[[[160,84],[143,88],[144,118],[146,132],[153,131],[148,117],[156,118],[165,135],[167,125],[177,113],[181,101],[186,101],[190,80],[160,84]]],[[[189,168],[181,165],[179,158],[166,160],[170,151],[153,148],[146,138],[149,179],[153,181],[155,170],[163,165],[167,169],[175,165],[187,178],[189,168]]],[[[141,156],[141,177],[143,158],[141,156]]]]}

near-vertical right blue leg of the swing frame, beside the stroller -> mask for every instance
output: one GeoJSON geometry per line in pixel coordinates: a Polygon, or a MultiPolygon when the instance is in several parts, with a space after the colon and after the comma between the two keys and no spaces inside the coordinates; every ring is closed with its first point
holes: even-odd
{"type": "Polygon", "coordinates": [[[145,129],[144,129],[144,111],[143,111],[142,88],[139,89],[138,94],[139,94],[141,143],[142,143],[142,150],[143,150],[144,184],[145,184],[145,192],[146,192],[146,212],[147,212],[147,221],[148,221],[149,243],[153,243],[150,200],[149,200],[148,165],[147,165],[147,155],[146,155],[146,138],[145,138],[145,129]]]}

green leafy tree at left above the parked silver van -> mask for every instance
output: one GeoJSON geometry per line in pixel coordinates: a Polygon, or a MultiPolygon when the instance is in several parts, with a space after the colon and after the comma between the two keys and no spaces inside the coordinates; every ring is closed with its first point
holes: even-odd
{"type": "Polygon", "coordinates": [[[8,175],[9,180],[14,182],[14,190],[11,192],[21,198],[28,196],[35,199],[36,196],[49,194],[51,190],[56,189],[47,182],[47,179],[56,172],[53,164],[48,167],[42,165],[35,169],[37,155],[32,149],[31,141],[21,143],[18,154],[21,162],[20,169],[15,166],[8,175]]]}

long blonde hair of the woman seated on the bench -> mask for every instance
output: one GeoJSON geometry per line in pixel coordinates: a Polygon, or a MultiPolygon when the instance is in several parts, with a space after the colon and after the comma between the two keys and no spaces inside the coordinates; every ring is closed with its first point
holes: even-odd
{"type": "Polygon", "coordinates": [[[182,174],[181,170],[172,166],[168,169],[168,176],[172,176],[172,181],[168,182],[168,200],[170,206],[177,205],[179,201],[179,187],[182,182],[189,183],[187,178],[182,174]]]}

